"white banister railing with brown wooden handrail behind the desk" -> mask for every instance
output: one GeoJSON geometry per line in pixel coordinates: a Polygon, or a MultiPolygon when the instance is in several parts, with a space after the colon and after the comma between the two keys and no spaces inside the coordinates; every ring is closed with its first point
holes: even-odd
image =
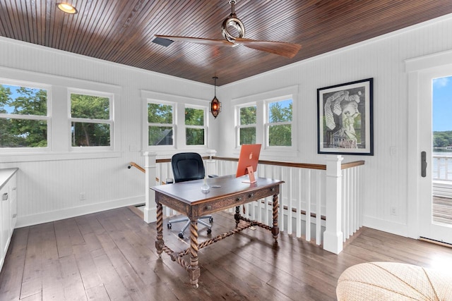
{"type": "MultiPolygon", "coordinates": [[[[204,166],[208,174],[225,176],[235,173],[237,161],[210,155],[204,157],[204,166]]],[[[280,231],[287,231],[290,235],[295,233],[307,241],[315,238],[316,245],[323,244],[323,249],[335,254],[342,251],[343,242],[362,226],[364,183],[364,161],[347,164],[342,164],[342,161],[342,156],[327,156],[326,165],[259,161],[257,176],[285,181],[279,196],[280,231]]],[[[155,177],[155,185],[173,177],[169,159],[157,160],[155,177]]],[[[272,197],[268,197],[245,204],[245,214],[271,226],[272,202],[272,197]]],[[[155,208],[155,204],[149,203],[150,212],[152,206],[155,208]]],[[[177,212],[164,207],[164,214],[173,216],[177,212]]]]}

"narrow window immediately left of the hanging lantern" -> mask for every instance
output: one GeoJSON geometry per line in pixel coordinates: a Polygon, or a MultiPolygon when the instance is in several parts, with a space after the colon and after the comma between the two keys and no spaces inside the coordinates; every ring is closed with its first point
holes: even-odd
{"type": "Polygon", "coordinates": [[[186,145],[206,145],[206,109],[185,108],[186,145]]]}

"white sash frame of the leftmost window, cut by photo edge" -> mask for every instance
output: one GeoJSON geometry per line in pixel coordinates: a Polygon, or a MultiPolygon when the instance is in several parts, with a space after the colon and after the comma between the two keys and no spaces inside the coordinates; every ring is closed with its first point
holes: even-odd
{"type": "Polygon", "coordinates": [[[28,87],[30,89],[40,89],[47,91],[47,114],[44,115],[20,115],[13,113],[0,113],[2,119],[24,119],[32,121],[46,121],[47,123],[47,147],[0,147],[0,154],[8,153],[42,153],[49,152],[52,149],[51,133],[52,133],[52,86],[39,82],[28,80],[12,80],[8,78],[0,78],[0,85],[10,85],[16,87],[28,87]]]}

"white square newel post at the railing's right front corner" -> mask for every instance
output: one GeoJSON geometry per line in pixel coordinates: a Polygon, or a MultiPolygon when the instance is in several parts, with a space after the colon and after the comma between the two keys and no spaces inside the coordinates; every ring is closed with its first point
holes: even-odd
{"type": "Polygon", "coordinates": [[[323,249],[335,254],[343,250],[342,224],[342,170],[343,156],[326,158],[326,231],[323,249]]]}

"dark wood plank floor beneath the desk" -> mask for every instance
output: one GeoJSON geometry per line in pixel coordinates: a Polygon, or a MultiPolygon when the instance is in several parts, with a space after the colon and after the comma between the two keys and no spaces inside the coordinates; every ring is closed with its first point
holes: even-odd
{"type": "MultiPolygon", "coordinates": [[[[212,235],[234,226],[230,214],[213,218],[212,235]]],[[[173,250],[188,247],[179,226],[164,228],[173,250]]],[[[194,289],[182,266],[166,254],[157,258],[155,235],[155,223],[128,208],[18,228],[0,274],[0,300],[335,300],[338,277],[353,264],[452,263],[451,248],[369,228],[339,255],[287,233],[275,247],[268,231],[248,229],[200,250],[194,289]]],[[[205,238],[200,226],[199,240],[205,238]]]]}

